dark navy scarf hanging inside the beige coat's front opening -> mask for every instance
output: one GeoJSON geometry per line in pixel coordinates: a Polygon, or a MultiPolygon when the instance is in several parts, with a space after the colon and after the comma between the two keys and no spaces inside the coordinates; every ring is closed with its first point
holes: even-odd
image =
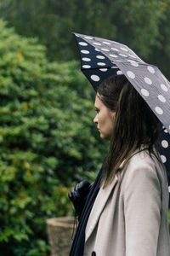
{"type": "MultiPolygon", "coordinates": [[[[103,165],[104,166],[104,165],[103,165]]],[[[96,177],[93,186],[89,191],[89,195],[85,202],[82,215],[77,227],[77,232],[74,237],[74,241],[71,246],[71,252],[69,256],[82,256],[84,252],[85,230],[88,223],[88,217],[94,206],[94,201],[99,192],[99,185],[102,177],[103,166],[101,167],[98,176],[96,177]]]]}

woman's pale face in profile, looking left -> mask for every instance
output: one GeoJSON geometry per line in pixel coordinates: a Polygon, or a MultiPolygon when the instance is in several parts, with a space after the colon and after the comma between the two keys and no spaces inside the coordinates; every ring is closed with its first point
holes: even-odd
{"type": "Polygon", "coordinates": [[[94,117],[94,123],[97,124],[100,137],[106,140],[111,140],[116,112],[105,107],[104,103],[99,99],[98,94],[95,98],[94,107],[97,112],[94,117]]]}

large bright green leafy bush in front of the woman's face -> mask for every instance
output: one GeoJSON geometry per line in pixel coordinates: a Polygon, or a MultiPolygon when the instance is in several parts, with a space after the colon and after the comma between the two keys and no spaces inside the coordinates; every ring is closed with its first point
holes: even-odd
{"type": "Polygon", "coordinates": [[[0,254],[45,256],[45,219],[72,213],[71,185],[93,180],[106,147],[79,64],[49,63],[3,20],[0,37],[0,254]]]}

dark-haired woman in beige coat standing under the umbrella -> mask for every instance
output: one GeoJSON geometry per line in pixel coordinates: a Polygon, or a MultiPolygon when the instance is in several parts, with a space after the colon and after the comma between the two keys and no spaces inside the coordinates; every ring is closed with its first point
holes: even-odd
{"type": "MultiPolygon", "coordinates": [[[[70,255],[169,256],[167,174],[156,149],[162,125],[123,75],[99,85],[95,108],[94,123],[111,140],[110,150],[70,255]]],[[[82,188],[79,197],[86,196],[82,188]]]]}

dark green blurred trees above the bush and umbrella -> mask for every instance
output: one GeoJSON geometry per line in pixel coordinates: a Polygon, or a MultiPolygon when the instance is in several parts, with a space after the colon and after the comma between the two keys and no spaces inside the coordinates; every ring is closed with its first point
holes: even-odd
{"type": "Polygon", "coordinates": [[[168,76],[169,3],[169,0],[1,0],[0,12],[20,34],[38,37],[47,46],[50,60],[75,58],[71,32],[80,32],[127,44],[144,61],[158,62],[168,76]]]}

